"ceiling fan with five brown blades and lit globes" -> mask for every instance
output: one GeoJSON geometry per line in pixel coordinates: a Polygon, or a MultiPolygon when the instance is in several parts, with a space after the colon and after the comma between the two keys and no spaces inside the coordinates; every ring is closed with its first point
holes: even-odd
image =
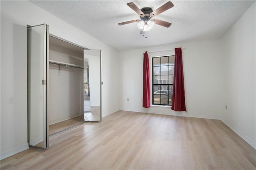
{"type": "Polygon", "coordinates": [[[165,22],[162,20],[152,19],[152,17],[161,14],[162,12],[172,8],[174,5],[172,2],[167,2],[166,4],[160,6],[156,10],[152,10],[152,8],[145,7],[145,8],[138,8],[133,2],[127,4],[132,10],[134,10],[140,16],[140,20],[131,20],[126,22],[118,23],[118,25],[122,26],[125,24],[130,24],[133,22],[138,22],[137,26],[140,29],[140,34],[144,34],[146,31],[150,31],[153,28],[154,24],[158,24],[160,26],[164,26],[166,28],[170,27],[172,23],[165,22]]]}

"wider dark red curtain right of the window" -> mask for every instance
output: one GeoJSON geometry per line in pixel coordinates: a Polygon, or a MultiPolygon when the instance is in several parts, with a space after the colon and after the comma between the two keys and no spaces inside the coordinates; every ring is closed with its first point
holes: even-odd
{"type": "Polygon", "coordinates": [[[181,48],[175,48],[172,110],[186,111],[181,48]]]}

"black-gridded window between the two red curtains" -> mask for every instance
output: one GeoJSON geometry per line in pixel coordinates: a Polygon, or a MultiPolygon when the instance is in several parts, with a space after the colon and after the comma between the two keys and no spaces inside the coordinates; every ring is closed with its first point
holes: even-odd
{"type": "Polygon", "coordinates": [[[153,105],[172,105],[174,55],[152,58],[153,105]]]}

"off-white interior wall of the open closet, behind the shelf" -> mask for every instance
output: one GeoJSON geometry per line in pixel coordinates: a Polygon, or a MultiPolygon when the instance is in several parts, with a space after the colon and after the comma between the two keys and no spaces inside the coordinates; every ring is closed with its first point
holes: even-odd
{"type": "MultiPolygon", "coordinates": [[[[74,45],[73,45],[74,46],[74,45]]],[[[83,50],[50,37],[49,59],[83,66],[83,50]]],[[[49,65],[49,125],[83,115],[84,70],[63,65],[49,65]]]]}

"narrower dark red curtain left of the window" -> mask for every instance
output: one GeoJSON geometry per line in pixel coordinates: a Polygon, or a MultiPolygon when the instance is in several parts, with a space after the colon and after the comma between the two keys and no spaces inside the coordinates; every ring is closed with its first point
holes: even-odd
{"type": "Polygon", "coordinates": [[[150,107],[150,79],[149,79],[149,63],[148,52],[144,53],[143,59],[143,107],[150,107]]]}

